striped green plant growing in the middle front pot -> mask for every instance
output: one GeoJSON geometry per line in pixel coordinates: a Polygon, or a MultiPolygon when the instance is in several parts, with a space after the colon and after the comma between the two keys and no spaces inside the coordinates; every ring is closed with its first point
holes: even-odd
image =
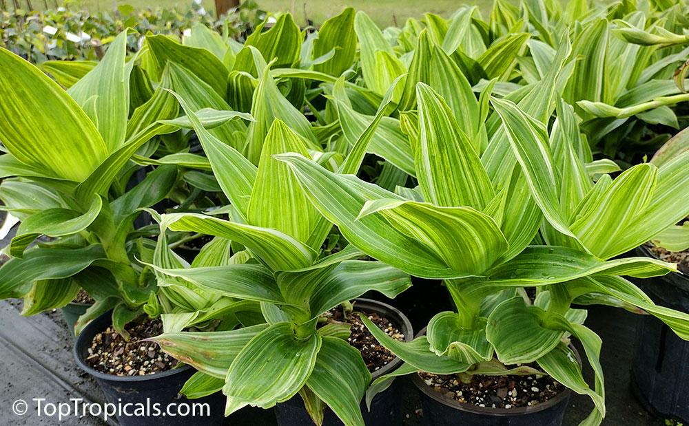
{"type": "MultiPolygon", "coordinates": [[[[265,65],[263,70],[267,70],[265,65]]],[[[267,71],[264,73],[260,84],[270,87],[274,83],[267,71]]],[[[358,169],[393,88],[376,119],[338,166],[340,172],[358,169]]],[[[362,253],[353,246],[321,255],[332,224],[296,187],[287,165],[272,158],[291,151],[320,157],[305,138],[281,120],[274,120],[267,129],[256,167],[210,134],[185,99],[178,96],[178,100],[203,149],[213,153],[209,155],[210,164],[232,204],[222,212],[229,214],[228,220],[173,213],[165,215],[163,222],[173,231],[232,239],[251,253],[251,261],[215,267],[170,268],[165,263],[151,266],[168,279],[182,279],[208,292],[260,302],[266,323],[237,330],[171,332],[152,340],[214,378],[187,383],[185,391],[209,394],[222,389],[227,396],[228,415],[247,405],[270,408],[299,393],[317,423],[327,405],[344,423],[361,425],[360,403],[371,373],[360,352],[346,341],[349,325],[340,321],[322,326],[319,323],[324,321],[322,314],[343,303],[347,306],[367,290],[394,297],[410,286],[409,275],[381,262],[356,260],[362,253]]],[[[355,302],[355,309],[357,303],[364,301],[355,302]]],[[[401,330],[404,324],[396,326],[401,330]]]]}

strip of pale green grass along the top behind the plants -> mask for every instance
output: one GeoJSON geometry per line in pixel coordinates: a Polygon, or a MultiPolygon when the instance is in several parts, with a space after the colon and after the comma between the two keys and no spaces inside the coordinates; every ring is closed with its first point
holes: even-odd
{"type": "MultiPolygon", "coordinates": [[[[10,0],[11,1],[11,0],[10,0]]],[[[22,6],[25,0],[19,0],[22,6]]],[[[30,0],[34,8],[43,8],[43,0],[30,0]]],[[[54,6],[54,0],[46,0],[48,6],[54,6]]],[[[58,0],[61,2],[62,0],[58,0]]],[[[465,1],[457,0],[256,0],[258,6],[269,12],[292,12],[295,21],[299,25],[305,25],[308,17],[314,25],[320,25],[328,19],[342,11],[347,6],[356,10],[363,10],[369,14],[381,28],[395,25],[404,25],[408,18],[421,18],[424,12],[439,14],[442,17],[450,17],[457,8],[465,1]]],[[[492,0],[466,0],[479,6],[487,16],[493,1],[492,0]]],[[[118,4],[130,4],[135,8],[147,8],[150,6],[178,6],[188,7],[191,0],[83,0],[81,6],[91,11],[105,12],[112,10],[118,4]]],[[[202,6],[209,12],[215,10],[213,0],[202,0],[202,6]]]]}

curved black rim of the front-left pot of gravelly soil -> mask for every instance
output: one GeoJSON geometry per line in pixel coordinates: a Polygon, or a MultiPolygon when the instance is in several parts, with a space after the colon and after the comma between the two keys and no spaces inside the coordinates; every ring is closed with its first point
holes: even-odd
{"type": "Polygon", "coordinates": [[[163,377],[172,376],[173,374],[178,374],[180,372],[185,372],[192,368],[189,364],[183,364],[180,367],[173,368],[172,370],[167,370],[164,372],[158,372],[154,374],[146,374],[145,376],[116,376],[115,374],[107,374],[99,372],[94,368],[91,368],[88,363],[86,363],[82,351],[79,350],[82,346],[83,348],[88,348],[90,341],[99,332],[105,331],[105,328],[112,325],[112,310],[105,312],[100,317],[90,321],[84,329],[79,333],[79,336],[74,340],[74,348],[72,353],[74,354],[74,359],[76,360],[76,365],[79,365],[81,370],[84,370],[96,379],[114,381],[114,382],[141,382],[141,381],[152,381],[157,379],[162,379],[163,377]]]}

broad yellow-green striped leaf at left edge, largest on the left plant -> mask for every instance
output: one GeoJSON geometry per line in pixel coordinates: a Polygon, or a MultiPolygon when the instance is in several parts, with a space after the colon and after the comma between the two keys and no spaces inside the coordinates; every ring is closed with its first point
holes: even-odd
{"type": "Polygon", "coordinates": [[[14,158],[46,177],[81,182],[107,146],[76,102],[41,70],[0,50],[0,140],[14,158]],[[40,116],[41,120],[34,117],[40,116]],[[55,133],[55,129],[60,129],[55,133]]]}

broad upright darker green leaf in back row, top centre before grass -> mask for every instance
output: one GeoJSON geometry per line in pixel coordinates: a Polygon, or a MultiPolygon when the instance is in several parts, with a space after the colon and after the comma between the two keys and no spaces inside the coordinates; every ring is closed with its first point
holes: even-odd
{"type": "Polygon", "coordinates": [[[345,8],[342,13],[325,21],[318,30],[318,39],[313,41],[313,58],[335,50],[328,61],[313,65],[313,70],[331,76],[340,76],[354,63],[356,33],[354,32],[354,10],[345,8]]]}

